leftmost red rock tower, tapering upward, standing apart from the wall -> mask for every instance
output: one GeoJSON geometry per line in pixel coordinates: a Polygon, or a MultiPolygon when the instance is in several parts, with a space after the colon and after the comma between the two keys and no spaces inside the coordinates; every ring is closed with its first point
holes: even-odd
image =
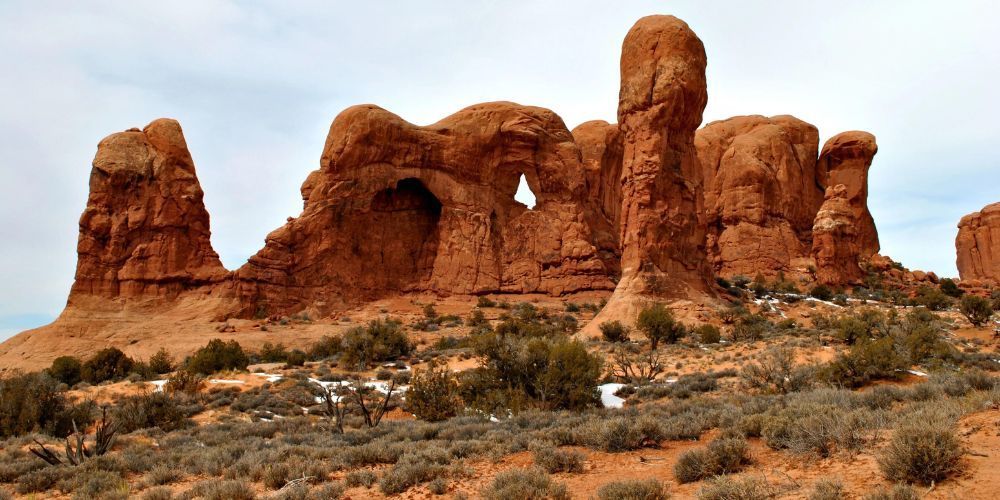
{"type": "Polygon", "coordinates": [[[180,125],[169,119],[106,137],[80,217],[69,303],[170,297],[224,279],[180,125]]]}

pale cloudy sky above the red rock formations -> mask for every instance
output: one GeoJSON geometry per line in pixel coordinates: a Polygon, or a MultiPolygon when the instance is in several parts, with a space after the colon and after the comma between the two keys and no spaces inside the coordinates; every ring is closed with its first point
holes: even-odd
{"type": "Polygon", "coordinates": [[[229,269],[302,209],[344,108],[429,124],[470,104],[615,121],[625,33],[673,14],[704,41],[704,122],[792,114],[878,138],[882,253],[954,276],[956,223],[1000,201],[992,1],[0,2],[0,339],[65,305],[104,136],[180,121],[229,269]]]}

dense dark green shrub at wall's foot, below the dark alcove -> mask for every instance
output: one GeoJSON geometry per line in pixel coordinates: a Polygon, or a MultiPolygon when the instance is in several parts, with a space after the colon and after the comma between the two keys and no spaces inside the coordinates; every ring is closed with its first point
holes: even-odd
{"type": "Polygon", "coordinates": [[[341,349],[344,363],[365,368],[371,363],[409,355],[413,345],[398,321],[378,319],[365,327],[348,330],[341,339],[341,349]]]}

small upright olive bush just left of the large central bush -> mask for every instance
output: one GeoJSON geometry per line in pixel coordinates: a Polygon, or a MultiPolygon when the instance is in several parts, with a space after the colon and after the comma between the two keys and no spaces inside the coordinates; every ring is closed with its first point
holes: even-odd
{"type": "Polygon", "coordinates": [[[437,422],[458,415],[463,407],[458,380],[447,366],[431,364],[414,371],[406,392],[406,411],[421,420],[437,422]]]}

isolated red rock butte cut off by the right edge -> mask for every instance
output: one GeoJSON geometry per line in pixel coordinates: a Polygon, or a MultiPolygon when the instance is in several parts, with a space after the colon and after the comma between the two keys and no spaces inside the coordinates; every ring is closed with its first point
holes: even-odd
{"type": "Polygon", "coordinates": [[[955,250],[962,281],[1000,282],[1000,203],[962,217],[955,250]]]}

